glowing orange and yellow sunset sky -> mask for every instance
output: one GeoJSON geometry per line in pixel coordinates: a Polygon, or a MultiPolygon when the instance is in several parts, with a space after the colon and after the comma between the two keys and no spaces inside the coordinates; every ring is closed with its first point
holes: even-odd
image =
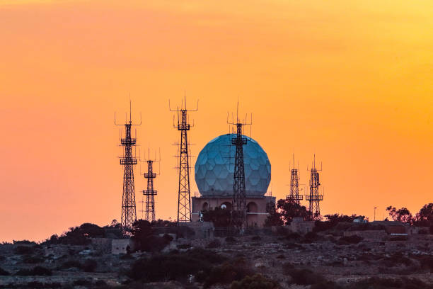
{"type": "Polygon", "coordinates": [[[323,214],[416,212],[433,201],[432,15],[431,0],[0,0],[0,242],[120,220],[129,94],[142,154],[161,148],[159,218],[176,215],[168,99],[185,90],[192,154],[239,97],[277,198],[291,155],[306,183],[316,153],[323,214]]]}

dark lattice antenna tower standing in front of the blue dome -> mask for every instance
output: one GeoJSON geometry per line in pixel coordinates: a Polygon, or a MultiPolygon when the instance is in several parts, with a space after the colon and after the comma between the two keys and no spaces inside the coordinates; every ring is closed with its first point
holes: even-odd
{"type": "Polygon", "coordinates": [[[251,114],[250,123],[245,120],[242,122],[239,120],[239,101],[236,108],[236,122],[233,120],[229,121],[229,115],[227,114],[227,123],[236,127],[236,137],[231,139],[231,145],[236,147],[235,162],[233,170],[233,200],[231,205],[231,226],[240,227],[245,229],[247,227],[246,220],[246,185],[245,185],[245,169],[243,163],[243,146],[247,144],[247,138],[242,134],[242,128],[245,125],[253,124],[253,114],[251,114]]]}

